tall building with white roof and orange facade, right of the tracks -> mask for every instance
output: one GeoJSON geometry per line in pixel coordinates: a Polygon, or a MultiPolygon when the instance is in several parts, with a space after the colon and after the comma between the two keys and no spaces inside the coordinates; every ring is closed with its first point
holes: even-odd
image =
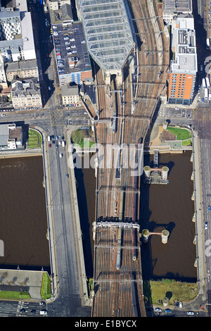
{"type": "Polygon", "coordinates": [[[193,17],[178,17],[172,25],[172,54],[168,104],[189,105],[198,71],[196,33],[193,17]]]}

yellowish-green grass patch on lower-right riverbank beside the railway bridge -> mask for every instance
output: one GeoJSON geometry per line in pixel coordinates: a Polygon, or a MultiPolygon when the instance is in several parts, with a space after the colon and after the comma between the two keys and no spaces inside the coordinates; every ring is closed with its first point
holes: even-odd
{"type": "Polygon", "coordinates": [[[143,282],[143,293],[147,304],[162,304],[162,299],[170,299],[169,304],[174,301],[191,301],[198,294],[198,285],[196,283],[177,282],[175,280],[151,280],[143,282]]]}

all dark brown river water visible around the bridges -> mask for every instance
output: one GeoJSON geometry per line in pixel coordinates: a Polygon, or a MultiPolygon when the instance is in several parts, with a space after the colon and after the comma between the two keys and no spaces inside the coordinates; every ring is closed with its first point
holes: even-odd
{"type": "MultiPolygon", "coordinates": [[[[160,165],[167,165],[168,185],[145,185],[141,182],[141,230],[170,232],[167,244],[152,235],[141,246],[143,279],[173,278],[196,281],[196,246],[193,244],[193,181],[191,152],[160,154],[160,165]]],[[[151,165],[153,156],[145,156],[151,165]]],[[[46,200],[42,158],[0,159],[0,239],[4,241],[4,257],[0,268],[47,270],[49,241],[46,239],[46,200]]],[[[94,169],[76,169],[79,213],[84,244],[87,277],[93,277],[94,241],[92,223],[95,216],[96,177],[94,169]]]]}

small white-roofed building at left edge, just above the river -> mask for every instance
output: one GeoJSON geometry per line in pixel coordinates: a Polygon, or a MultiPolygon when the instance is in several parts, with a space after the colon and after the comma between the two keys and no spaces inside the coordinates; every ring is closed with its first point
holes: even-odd
{"type": "Polygon", "coordinates": [[[0,151],[23,147],[22,127],[15,124],[0,125],[0,151]]]}

